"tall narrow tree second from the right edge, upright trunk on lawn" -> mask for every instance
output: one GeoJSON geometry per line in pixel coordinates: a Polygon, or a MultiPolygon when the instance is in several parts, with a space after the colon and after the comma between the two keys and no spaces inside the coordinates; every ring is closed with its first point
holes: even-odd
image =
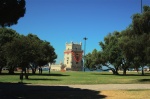
{"type": "Polygon", "coordinates": [[[121,32],[121,37],[119,39],[119,47],[122,52],[122,66],[123,74],[126,75],[126,71],[130,67],[138,68],[137,65],[134,63],[134,57],[135,57],[135,39],[132,35],[133,33],[132,25],[130,25],[127,29],[123,30],[121,32]]]}

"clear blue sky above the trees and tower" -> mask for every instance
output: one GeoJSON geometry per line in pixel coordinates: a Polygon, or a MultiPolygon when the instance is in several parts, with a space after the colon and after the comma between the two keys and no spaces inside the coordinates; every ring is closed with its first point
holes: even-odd
{"type": "MultiPolygon", "coordinates": [[[[142,4],[150,6],[150,0],[142,4]]],[[[99,42],[109,33],[126,29],[136,13],[141,13],[141,0],[26,0],[24,17],[11,28],[50,42],[59,64],[64,61],[66,42],[82,42],[84,50],[87,37],[86,54],[99,51],[99,42]]]]}

